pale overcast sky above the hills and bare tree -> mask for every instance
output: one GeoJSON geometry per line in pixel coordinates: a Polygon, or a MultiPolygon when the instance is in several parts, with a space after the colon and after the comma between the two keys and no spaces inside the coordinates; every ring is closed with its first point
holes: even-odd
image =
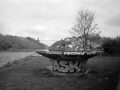
{"type": "Polygon", "coordinates": [[[77,12],[95,12],[101,36],[120,36],[120,0],[0,0],[0,33],[47,45],[70,37],[77,12]]]}

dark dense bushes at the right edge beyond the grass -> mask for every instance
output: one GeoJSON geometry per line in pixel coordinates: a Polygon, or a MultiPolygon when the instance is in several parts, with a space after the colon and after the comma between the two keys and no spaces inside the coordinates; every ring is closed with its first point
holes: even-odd
{"type": "Polygon", "coordinates": [[[105,54],[120,55],[120,37],[103,38],[102,43],[105,54]]]}

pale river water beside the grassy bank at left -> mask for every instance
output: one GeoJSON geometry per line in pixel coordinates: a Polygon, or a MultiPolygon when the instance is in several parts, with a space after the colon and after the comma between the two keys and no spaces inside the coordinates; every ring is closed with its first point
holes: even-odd
{"type": "Polygon", "coordinates": [[[0,67],[9,61],[19,60],[26,56],[37,56],[38,54],[33,52],[0,52],[0,67]]]}

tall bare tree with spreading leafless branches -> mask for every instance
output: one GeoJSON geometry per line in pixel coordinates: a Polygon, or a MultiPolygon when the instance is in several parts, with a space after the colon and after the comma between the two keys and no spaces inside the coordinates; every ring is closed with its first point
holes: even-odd
{"type": "Polygon", "coordinates": [[[99,31],[97,31],[97,24],[94,23],[95,13],[90,10],[80,10],[77,13],[75,19],[75,24],[70,30],[70,33],[82,40],[82,46],[84,51],[90,47],[89,43],[93,41],[94,38],[99,36],[99,31]]]}

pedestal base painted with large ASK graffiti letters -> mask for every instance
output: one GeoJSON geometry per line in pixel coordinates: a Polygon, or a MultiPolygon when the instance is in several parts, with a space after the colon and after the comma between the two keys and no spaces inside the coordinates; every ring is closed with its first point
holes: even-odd
{"type": "Polygon", "coordinates": [[[60,73],[80,73],[85,70],[85,63],[84,61],[57,61],[53,60],[52,67],[53,71],[60,72],[60,73]]]}

